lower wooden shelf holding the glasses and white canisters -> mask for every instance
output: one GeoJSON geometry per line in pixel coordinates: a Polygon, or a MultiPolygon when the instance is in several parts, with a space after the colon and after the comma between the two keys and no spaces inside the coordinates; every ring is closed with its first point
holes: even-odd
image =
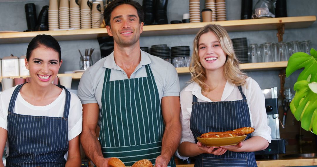
{"type": "MultiPolygon", "coordinates": [[[[267,63],[248,63],[248,64],[240,64],[241,70],[244,71],[260,71],[260,70],[279,70],[282,68],[286,68],[287,61],[279,61],[279,62],[267,62],[267,63]]],[[[176,68],[178,74],[188,74],[188,67],[179,67],[176,68]]],[[[71,76],[73,79],[80,79],[82,73],[70,73],[70,74],[58,74],[58,77],[71,76]]],[[[9,78],[25,78],[28,76],[13,76],[9,78]]],[[[3,77],[0,77],[0,82],[3,77]]]]}

